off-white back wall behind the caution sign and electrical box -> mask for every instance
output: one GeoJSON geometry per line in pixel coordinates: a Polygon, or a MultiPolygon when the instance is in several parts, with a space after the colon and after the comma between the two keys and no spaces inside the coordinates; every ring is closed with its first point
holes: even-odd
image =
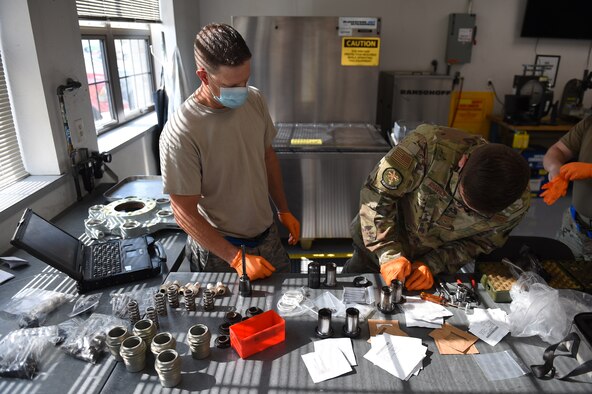
{"type": "MultiPolygon", "coordinates": [[[[430,70],[436,59],[445,72],[448,15],[468,11],[467,0],[217,0],[200,1],[200,24],[231,22],[231,16],[377,16],[382,20],[381,70],[430,70]]],[[[581,78],[590,41],[520,38],[526,0],[474,0],[477,45],[471,63],[454,66],[464,76],[464,90],[487,91],[491,79],[500,99],[512,91],[514,75],[536,54],[559,55],[555,99],[572,78],[581,78]]],[[[256,67],[256,59],[253,59],[256,67]]],[[[592,103],[592,95],[586,97],[592,103]]],[[[501,108],[496,104],[496,111],[501,108]]]]}

